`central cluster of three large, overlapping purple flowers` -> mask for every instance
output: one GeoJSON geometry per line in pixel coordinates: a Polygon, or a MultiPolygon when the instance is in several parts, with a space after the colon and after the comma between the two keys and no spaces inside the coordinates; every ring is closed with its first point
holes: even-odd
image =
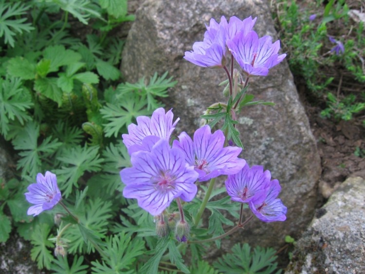
{"type": "Polygon", "coordinates": [[[120,172],[126,185],[123,195],[137,199],[139,206],[154,216],[176,198],[192,201],[197,180],[235,174],[246,163],[238,158],[242,149],[223,147],[223,132],[212,134],[209,126],[199,128],[194,140],[181,133],[170,147],[169,138],[178,120],[173,123],[172,111],[165,113],[160,108],[151,118],[138,117],[138,125],[130,125],[128,134],[123,134],[132,163],[120,172]]]}

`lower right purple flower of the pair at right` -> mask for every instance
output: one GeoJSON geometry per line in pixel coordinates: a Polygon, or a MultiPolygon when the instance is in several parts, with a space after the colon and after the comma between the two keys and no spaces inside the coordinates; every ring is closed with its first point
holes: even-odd
{"type": "Polygon", "coordinates": [[[264,222],[284,221],[287,207],[280,199],[276,199],[280,192],[279,181],[273,180],[270,183],[267,196],[264,201],[250,201],[249,206],[256,217],[264,222]]]}

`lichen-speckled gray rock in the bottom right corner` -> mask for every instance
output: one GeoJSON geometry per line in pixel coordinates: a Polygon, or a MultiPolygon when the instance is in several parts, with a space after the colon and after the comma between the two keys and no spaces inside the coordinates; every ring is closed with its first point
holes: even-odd
{"type": "Polygon", "coordinates": [[[365,180],[349,178],[297,242],[287,274],[365,272],[365,180]]]}

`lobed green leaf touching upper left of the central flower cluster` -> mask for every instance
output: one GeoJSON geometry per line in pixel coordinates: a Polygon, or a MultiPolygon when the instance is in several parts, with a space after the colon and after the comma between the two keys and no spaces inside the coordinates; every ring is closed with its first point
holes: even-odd
{"type": "Polygon", "coordinates": [[[107,103],[105,107],[100,109],[103,118],[109,121],[109,123],[104,124],[104,132],[107,137],[111,135],[117,137],[121,128],[134,122],[136,117],[150,113],[145,109],[144,100],[140,100],[136,95],[128,94],[123,101],[123,104],[107,103]]]}

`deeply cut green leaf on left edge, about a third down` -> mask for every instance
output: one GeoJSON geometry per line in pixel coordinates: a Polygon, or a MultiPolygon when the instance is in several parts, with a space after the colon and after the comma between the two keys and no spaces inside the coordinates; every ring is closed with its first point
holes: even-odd
{"type": "Polygon", "coordinates": [[[5,137],[9,132],[10,121],[17,118],[23,125],[32,119],[27,112],[32,106],[32,98],[22,87],[19,78],[0,78],[0,131],[5,137]]]}

